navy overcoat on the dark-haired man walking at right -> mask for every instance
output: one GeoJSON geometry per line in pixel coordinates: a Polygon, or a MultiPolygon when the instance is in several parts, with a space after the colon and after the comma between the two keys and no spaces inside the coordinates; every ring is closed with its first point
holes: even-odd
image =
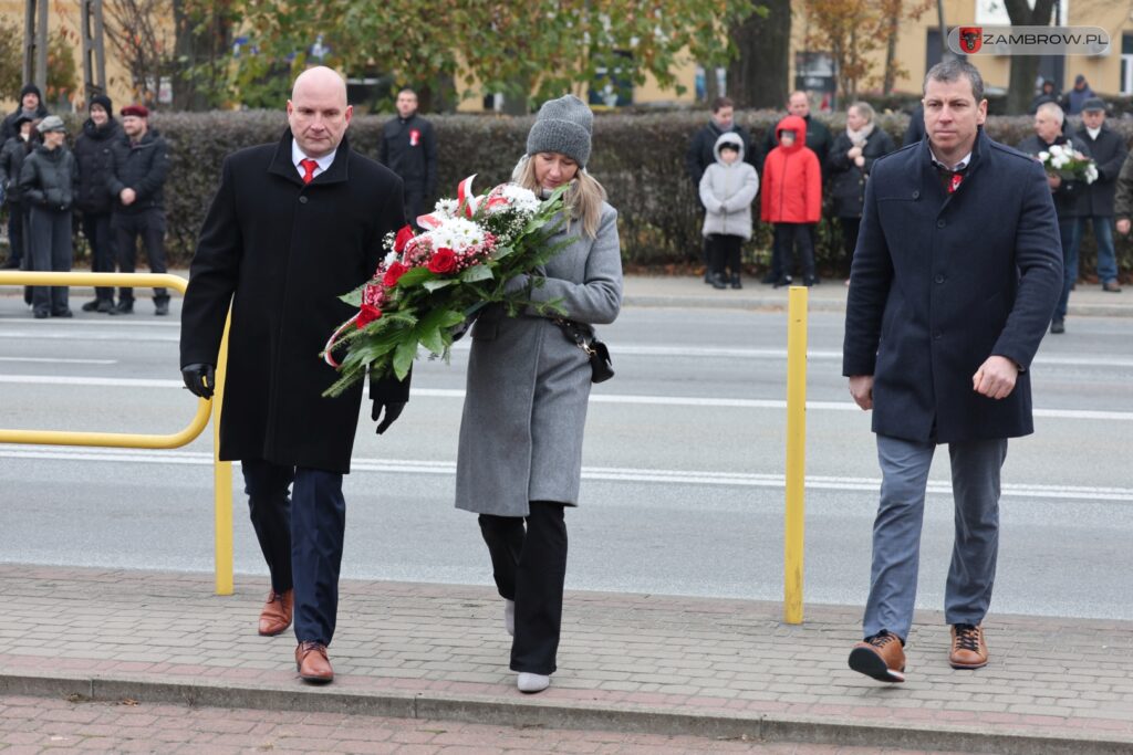
{"type": "Polygon", "coordinates": [[[874,376],[874,431],[922,443],[1033,431],[1030,368],[1062,293],[1062,247],[1038,162],[982,129],[947,195],[928,140],[874,163],[850,273],[843,375],[874,376]],[[1022,370],[972,389],[991,355],[1022,370]]]}

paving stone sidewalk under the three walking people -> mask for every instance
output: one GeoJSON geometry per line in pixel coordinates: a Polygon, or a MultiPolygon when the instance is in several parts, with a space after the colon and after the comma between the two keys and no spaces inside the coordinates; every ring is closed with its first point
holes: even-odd
{"type": "Polygon", "coordinates": [[[482,586],[346,582],[327,687],[290,634],[262,638],[261,580],[0,564],[0,695],[372,714],[749,741],[969,753],[1133,753],[1133,623],[994,615],[993,662],[947,666],[917,617],[909,681],[845,660],[860,610],[570,592],[559,671],[525,696],[502,601],[482,586]]]}

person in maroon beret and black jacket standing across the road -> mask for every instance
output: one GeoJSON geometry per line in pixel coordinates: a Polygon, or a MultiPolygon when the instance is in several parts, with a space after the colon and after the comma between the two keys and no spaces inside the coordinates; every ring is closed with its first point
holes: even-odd
{"type": "MultiPolygon", "coordinates": [[[[107,188],[114,199],[110,225],[118,252],[118,268],[133,273],[137,261],[137,238],[145,243],[150,272],[165,272],[165,208],[162,188],[169,175],[169,147],[156,130],[150,128],[150,111],[145,105],[122,108],[120,139],[111,141],[112,168],[107,188]]],[[[154,315],[169,314],[169,293],[153,290],[154,315]]],[[[119,315],[134,314],[134,290],[118,290],[119,315]]]]}

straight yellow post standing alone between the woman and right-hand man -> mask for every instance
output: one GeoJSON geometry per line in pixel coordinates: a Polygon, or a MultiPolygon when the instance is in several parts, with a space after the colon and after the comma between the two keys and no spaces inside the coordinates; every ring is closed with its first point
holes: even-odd
{"type": "Polygon", "coordinates": [[[789,293],[786,331],[786,516],[783,620],[802,624],[803,492],[807,461],[807,288],[789,293]]]}

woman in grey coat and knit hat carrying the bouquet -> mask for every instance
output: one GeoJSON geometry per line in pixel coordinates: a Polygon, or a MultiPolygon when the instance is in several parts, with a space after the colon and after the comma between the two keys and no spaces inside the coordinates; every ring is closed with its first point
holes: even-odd
{"type": "MultiPolygon", "coordinates": [[[[543,105],[527,137],[518,183],[546,196],[569,183],[572,239],[543,276],[511,282],[536,302],[557,302],[585,325],[612,323],[622,300],[617,213],[586,172],[594,117],[572,95],[543,105]]],[[[479,514],[493,576],[513,635],[520,690],[542,692],[555,670],[566,574],[563,509],[578,505],[590,363],[553,319],[491,307],[471,332],[457,457],[457,507],[479,514]]]]}

